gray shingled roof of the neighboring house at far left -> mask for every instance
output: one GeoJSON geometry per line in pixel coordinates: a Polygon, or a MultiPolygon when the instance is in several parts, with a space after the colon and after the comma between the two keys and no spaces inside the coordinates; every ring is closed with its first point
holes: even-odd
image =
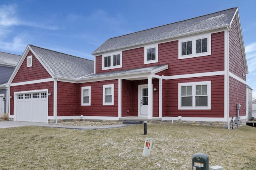
{"type": "Polygon", "coordinates": [[[0,64],[16,66],[21,55],[0,52],[0,64]]]}

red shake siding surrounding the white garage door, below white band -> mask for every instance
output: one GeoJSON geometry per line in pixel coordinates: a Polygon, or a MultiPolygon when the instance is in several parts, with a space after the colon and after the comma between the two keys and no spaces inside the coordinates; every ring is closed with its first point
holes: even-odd
{"type": "MultiPolygon", "coordinates": [[[[36,83],[36,84],[26,84],[21,86],[11,86],[10,96],[14,96],[14,92],[28,91],[28,90],[42,90],[48,89],[48,92],[52,93],[48,96],[48,116],[53,116],[53,81],[52,82],[44,82],[44,83],[36,83]]],[[[14,96],[15,97],[15,96],[14,96]]],[[[10,99],[10,115],[13,115],[13,102],[14,98],[10,99]]]]}

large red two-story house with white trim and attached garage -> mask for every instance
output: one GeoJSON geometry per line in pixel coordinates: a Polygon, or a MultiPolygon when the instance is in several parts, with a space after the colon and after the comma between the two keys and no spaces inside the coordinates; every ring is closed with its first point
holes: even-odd
{"type": "Polygon", "coordinates": [[[28,45],[9,80],[10,118],[246,122],[238,8],[114,37],[92,54],[94,62],[28,45]]]}

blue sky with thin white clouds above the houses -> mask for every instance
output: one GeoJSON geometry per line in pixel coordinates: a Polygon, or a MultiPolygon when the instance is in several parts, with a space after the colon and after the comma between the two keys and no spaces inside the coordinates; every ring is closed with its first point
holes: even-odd
{"type": "Polygon", "coordinates": [[[107,39],[238,7],[256,97],[256,0],[1,0],[0,51],[28,44],[94,60],[107,39]]]}

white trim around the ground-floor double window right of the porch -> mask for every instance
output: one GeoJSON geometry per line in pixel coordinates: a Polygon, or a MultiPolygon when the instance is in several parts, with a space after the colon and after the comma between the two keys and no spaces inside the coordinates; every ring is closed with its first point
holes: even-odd
{"type": "Polygon", "coordinates": [[[210,110],[211,109],[211,81],[205,82],[189,82],[189,83],[179,83],[178,84],[178,109],[179,110],[210,110]],[[207,96],[208,96],[208,106],[196,106],[196,86],[197,85],[207,85],[207,96]],[[181,87],[182,86],[192,86],[192,107],[181,106],[181,87]]]}

